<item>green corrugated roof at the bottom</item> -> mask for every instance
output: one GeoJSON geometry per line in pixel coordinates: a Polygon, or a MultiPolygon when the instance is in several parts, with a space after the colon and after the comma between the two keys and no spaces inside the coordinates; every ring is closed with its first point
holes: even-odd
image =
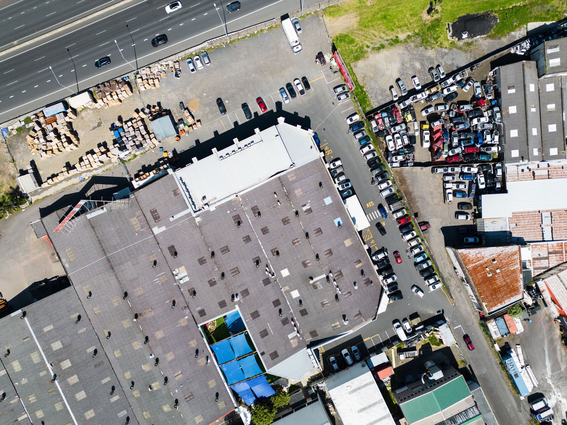
{"type": "Polygon", "coordinates": [[[462,376],[400,404],[408,423],[439,413],[471,395],[462,376]]]}

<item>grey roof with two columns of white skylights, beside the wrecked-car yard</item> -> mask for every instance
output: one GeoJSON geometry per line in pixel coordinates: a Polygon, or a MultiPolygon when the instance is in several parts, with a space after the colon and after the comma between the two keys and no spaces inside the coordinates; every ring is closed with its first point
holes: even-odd
{"type": "Polygon", "coordinates": [[[500,67],[497,82],[506,163],[540,161],[541,126],[535,62],[523,61],[500,67]]]}

